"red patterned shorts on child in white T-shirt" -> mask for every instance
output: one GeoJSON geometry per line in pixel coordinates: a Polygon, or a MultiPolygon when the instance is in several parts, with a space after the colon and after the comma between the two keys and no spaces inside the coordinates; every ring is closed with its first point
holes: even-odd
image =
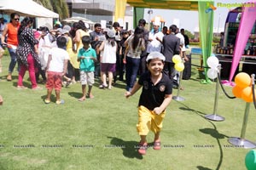
{"type": "Polygon", "coordinates": [[[45,85],[45,88],[47,89],[53,89],[55,90],[61,90],[62,86],[62,76],[61,72],[54,72],[54,71],[47,71],[47,82],[45,85]]]}

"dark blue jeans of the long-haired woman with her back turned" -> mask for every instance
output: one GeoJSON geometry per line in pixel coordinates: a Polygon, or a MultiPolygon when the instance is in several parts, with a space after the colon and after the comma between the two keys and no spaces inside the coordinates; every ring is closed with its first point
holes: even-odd
{"type": "Polygon", "coordinates": [[[136,79],[137,79],[137,71],[140,67],[141,59],[134,59],[131,57],[126,57],[126,72],[125,72],[125,79],[126,79],[126,90],[131,91],[133,88],[136,79]]]}

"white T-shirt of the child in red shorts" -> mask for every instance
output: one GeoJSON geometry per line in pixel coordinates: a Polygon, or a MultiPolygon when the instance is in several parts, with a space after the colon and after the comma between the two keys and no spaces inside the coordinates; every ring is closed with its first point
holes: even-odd
{"type": "Polygon", "coordinates": [[[63,72],[64,61],[65,59],[69,59],[67,51],[61,48],[51,48],[49,55],[51,55],[51,60],[49,61],[48,71],[63,72]]]}

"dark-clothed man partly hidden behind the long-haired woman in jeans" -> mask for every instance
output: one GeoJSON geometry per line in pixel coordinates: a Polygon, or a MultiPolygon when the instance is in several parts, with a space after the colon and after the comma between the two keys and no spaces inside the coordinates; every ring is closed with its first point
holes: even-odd
{"type": "Polygon", "coordinates": [[[147,46],[148,46],[148,34],[149,31],[145,28],[146,26],[146,20],[141,19],[138,21],[138,26],[143,27],[144,29],[144,41],[145,41],[145,50],[141,54],[141,65],[140,65],[140,74],[143,74],[144,72],[147,71],[147,65],[146,65],[146,58],[148,56],[147,54],[147,46]]]}

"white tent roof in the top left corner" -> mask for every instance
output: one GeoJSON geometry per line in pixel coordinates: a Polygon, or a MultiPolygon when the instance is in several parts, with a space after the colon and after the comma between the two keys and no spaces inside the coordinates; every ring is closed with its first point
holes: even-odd
{"type": "Polygon", "coordinates": [[[0,0],[0,11],[5,14],[16,12],[32,17],[59,18],[59,14],[32,0],[0,0]]]}

